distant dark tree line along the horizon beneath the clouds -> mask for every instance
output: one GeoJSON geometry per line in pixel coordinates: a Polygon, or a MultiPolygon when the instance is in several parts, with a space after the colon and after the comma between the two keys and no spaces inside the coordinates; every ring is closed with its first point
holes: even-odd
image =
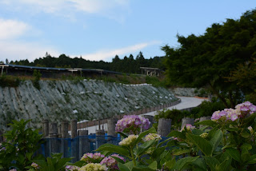
{"type": "MultiPolygon", "coordinates": [[[[46,53],[45,57],[37,58],[33,62],[26,60],[11,61],[10,64],[22,65],[22,66],[43,66],[43,67],[57,67],[57,68],[83,68],[83,69],[99,69],[99,70],[111,70],[128,74],[140,74],[140,67],[159,68],[164,70],[163,57],[154,57],[146,59],[142,52],[139,52],[136,58],[132,54],[129,57],[119,58],[116,55],[112,62],[95,62],[89,61],[82,57],[70,58],[66,54],[61,54],[58,58],[52,57],[46,53]]],[[[6,60],[8,63],[8,60],[6,60]]]]}

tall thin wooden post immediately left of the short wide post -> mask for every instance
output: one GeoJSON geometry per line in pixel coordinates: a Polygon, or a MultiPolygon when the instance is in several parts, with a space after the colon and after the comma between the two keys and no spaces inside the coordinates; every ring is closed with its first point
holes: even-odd
{"type": "Polygon", "coordinates": [[[71,156],[74,157],[72,162],[78,161],[78,141],[75,137],[77,137],[77,120],[71,120],[70,129],[71,129],[71,156]]]}

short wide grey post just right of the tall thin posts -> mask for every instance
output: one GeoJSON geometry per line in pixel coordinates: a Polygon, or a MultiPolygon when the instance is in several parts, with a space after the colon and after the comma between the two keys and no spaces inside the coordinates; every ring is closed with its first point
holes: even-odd
{"type": "Polygon", "coordinates": [[[81,158],[84,153],[90,152],[90,143],[88,138],[88,130],[78,130],[79,138],[79,155],[78,158],[81,158]]]}

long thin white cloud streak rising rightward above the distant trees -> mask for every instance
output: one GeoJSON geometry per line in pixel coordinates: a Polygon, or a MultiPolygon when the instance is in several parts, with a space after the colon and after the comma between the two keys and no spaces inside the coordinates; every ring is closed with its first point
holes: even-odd
{"type": "MultiPolygon", "coordinates": [[[[116,54],[122,55],[122,54],[131,54],[136,51],[142,50],[146,48],[147,46],[157,45],[161,42],[154,41],[154,42],[145,42],[140,43],[134,46],[127,46],[124,48],[120,48],[117,50],[99,50],[98,52],[95,52],[93,54],[82,54],[82,58],[90,61],[110,61],[110,58],[114,58],[116,54]]],[[[78,57],[80,55],[71,55],[72,57],[78,57]]]]}

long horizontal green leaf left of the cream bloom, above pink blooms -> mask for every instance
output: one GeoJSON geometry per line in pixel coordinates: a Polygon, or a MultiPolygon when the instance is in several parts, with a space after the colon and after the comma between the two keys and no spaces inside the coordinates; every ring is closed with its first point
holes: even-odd
{"type": "Polygon", "coordinates": [[[126,157],[130,157],[130,151],[122,146],[112,145],[112,144],[104,144],[98,147],[95,151],[108,151],[113,153],[118,153],[126,157]]]}

